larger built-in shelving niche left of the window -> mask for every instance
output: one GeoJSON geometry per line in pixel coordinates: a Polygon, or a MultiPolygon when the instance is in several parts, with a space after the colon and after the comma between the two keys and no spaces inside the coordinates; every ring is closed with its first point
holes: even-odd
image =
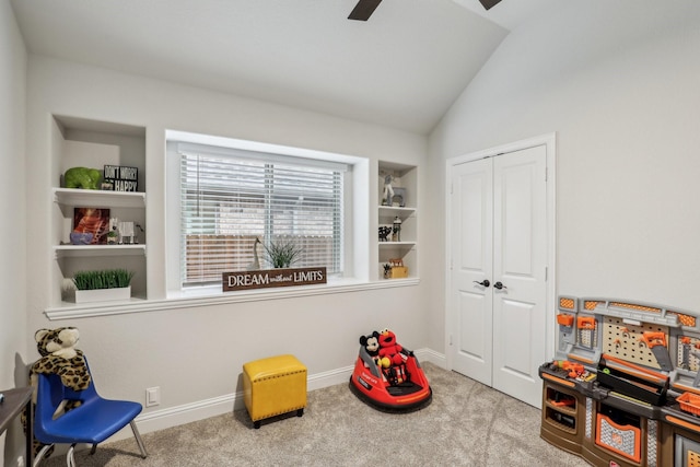
{"type": "Polygon", "coordinates": [[[70,278],[79,270],[124,268],[133,271],[132,299],[147,299],[145,128],[63,116],[54,116],[54,124],[50,307],[75,305],[70,278]],[[82,166],[102,171],[104,165],[137,167],[139,191],[65,187],[63,174],[68,168],[82,166]],[[72,245],[70,233],[75,208],[108,209],[109,218],[135,222],[143,231],[138,229],[133,243],[72,245]]]}

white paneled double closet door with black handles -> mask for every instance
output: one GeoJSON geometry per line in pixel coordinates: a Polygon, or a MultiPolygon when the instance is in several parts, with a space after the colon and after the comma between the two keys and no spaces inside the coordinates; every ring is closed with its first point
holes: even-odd
{"type": "Polygon", "coordinates": [[[547,149],[452,167],[452,369],[535,407],[546,358],[547,149]]]}

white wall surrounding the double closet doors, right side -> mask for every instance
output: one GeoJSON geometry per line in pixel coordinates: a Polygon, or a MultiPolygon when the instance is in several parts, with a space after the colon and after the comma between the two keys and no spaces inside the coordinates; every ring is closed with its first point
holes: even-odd
{"type": "MultiPolygon", "coordinates": [[[[446,159],[556,131],[558,293],[700,313],[699,24],[690,0],[596,0],[514,31],[430,137],[429,203],[446,159]]],[[[430,336],[442,349],[444,322],[430,336]]]]}

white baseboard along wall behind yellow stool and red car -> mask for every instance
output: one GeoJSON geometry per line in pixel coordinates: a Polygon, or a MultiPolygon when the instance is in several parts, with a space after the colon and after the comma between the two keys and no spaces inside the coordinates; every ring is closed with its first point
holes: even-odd
{"type": "MultiPolygon", "coordinates": [[[[413,353],[420,362],[430,362],[442,369],[446,365],[445,355],[443,353],[435,352],[434,350],[419,349],[415,350],[413,353]]],[[[349,365],[310,375],[306,387],[308,390],[316,390],[337,384],[348,383],[353,367],[353,365],[349,365]]],[[[212,397],[210,399],[142,413],[137,417],[136,422],[138,424],[139,432],[143,434],[185,423],[191,423],[210,417],[231,413],[234,410],[242,410],[244,408],[243,393],[236,392],[219,397],[212,397]]],[[[110,437],[109,441],[125,440],[131,436],[131,430],[127,427],[110,437]]]]}

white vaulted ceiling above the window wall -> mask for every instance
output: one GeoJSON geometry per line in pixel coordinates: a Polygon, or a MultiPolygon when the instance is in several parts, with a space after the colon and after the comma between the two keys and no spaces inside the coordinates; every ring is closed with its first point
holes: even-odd
{"type": "Polygon", "coordinates": [[[11,0],[32,54],[428,133],[557,0],[11,0]]]}

